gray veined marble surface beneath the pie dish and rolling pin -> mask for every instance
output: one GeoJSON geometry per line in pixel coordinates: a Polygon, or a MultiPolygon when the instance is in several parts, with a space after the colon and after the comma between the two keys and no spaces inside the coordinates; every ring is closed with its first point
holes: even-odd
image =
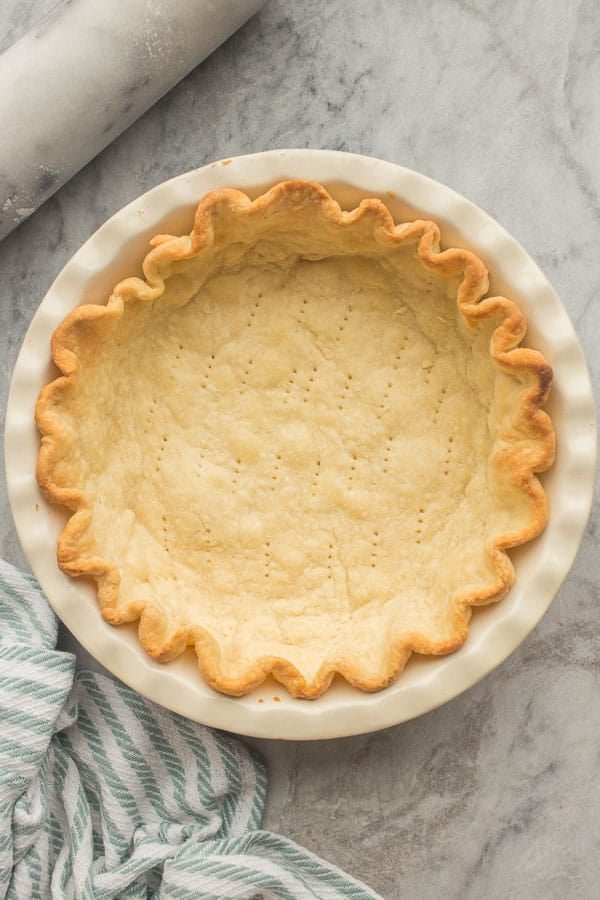
{"type": "MultiPolygon", "coordinates": [[[[52,5],[3,0],[0,47],[52,5]]],[[[0,244],[0,402],[47,287],[112,212],[212,159],[289,146],[402,163],[494,215],[558,290],[598,386],[599,42],[595,0],[267,0],[0,244]]],[[[386,898],[597,898],[598,522],[596,503],[544,621],[466,694],[364,737],[254,741],[265,826],[386,898]]],[[[0,552],[24,564],[4,485],[0,552]]]]}

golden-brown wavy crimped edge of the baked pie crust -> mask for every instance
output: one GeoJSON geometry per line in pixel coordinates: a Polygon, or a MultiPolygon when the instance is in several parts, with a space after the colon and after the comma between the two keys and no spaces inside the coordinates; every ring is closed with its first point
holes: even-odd
{"type": "Polygon", "coordinates": [[[36,422],[42,434],[36,476],[47,498],[71,510],[58,542],[58,564],[72,576],[91,576],[98,585],[98,598],[103,617],[118,625],[139,619],[139,638],[151,657],[167,662],[193,646],[199,668],[206,681],[216,690],[234,696],[252,691],[272,675],[294,697],[313,699],[329,687],[336,674],[362,691],[377,691],[392,683],[404,668],[411,653],[443,655],[457,650],[468,633],[471,608],[499,600],[514,581],[514,570],[506,550],[526,543],[545,527],[548,517],[547,501],[536,477],[554,459],[554,431],[549,416],[541,409],[547,400],[552,370],[541,353],[520,347],[526,331],[526,320],[517,305],[505,297],[485,298],[488,290],[487,270],[483,262],[468,250],[439,249],[440,233],[437,225],[428,221],[414,221],[395,226],[387,207],[380,200],[363,201],[357,208],[343,211],[338,203],[319,184],[288,181],[275,185],[265,194],[251,201],[245,194],[232,189],[208,194],[199,204],[194,227],[189,236],[172,238],[158,235],[143,263],[144,280],[128,278],[118,284],[106,306],[84,305],[76,308],[57,328],[52,339],[52,358],[61,372],[60,377],[46,385],[36,405],[36,422]],[[120,576],[116,565],[97,555],[94,547],[82,543],[86,522],[90,516],[90,500],[81,491],[61,487],[53,478],[60,458],[61,447],[69,440],[64,425],[53,415],[61,396],[78,376],[78,348],[85,340],[87,325],[93,321],[101,326],[123,314],[124,306],[132,299],[152,301],[164,290],[163,273],[179,260],[193,257],[214,242],[214,222],[220,211],[250,220],[280,205],[315,205],[320,215],[337,227],[349,227],[361,219],[372,222],[376,239],[399,246],[417,240],[417,252],[423,265],[445,276],[462,276],[457,302],[467,323],[493,317],[499,320],[491,342],[491,356],[508,373],[527,378],[531,385],[523,397],[515,417],[519,440],[497,453],[494,464],[532,501],[532,515],[528,527],[515,533],[498,536],[488,547],[497,572],[496,583],[485,593],[461,598],[454,614],[455,639],[443,643],[425,640],[421,635],[390,642],[388,668],[384,676],[370,680],[361,676],[351,660],[337,659],[324,665],[317,675],[307,681],[290,662],[277,657],[257,659],[243,677],[230,678],[220,666],[219,648],[215,640],[201,628],[181,629],[175,634],[165,633],[164,622],[156,609],[130,604],[117,611],[120,576]]]}

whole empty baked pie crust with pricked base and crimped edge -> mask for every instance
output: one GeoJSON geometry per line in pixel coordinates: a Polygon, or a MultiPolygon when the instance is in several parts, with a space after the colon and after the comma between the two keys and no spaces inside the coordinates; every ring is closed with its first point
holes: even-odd
{"type": "Polygon", "coordinates": [[[462,645],[543,529],[545,359],[483,263],[379,200],[225,189],[56,331],[38,480],[58,559],[234,695],[388,685],[462,645]]]}

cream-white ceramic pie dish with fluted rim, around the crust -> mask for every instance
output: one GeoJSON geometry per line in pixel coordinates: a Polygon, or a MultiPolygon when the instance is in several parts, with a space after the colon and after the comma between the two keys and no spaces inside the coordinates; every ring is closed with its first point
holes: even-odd
{"type": "Polygon", "coordinates": [[[489,216],[450,189],[391,163],[318,150],[282,150],[223,160],[166,182],[126,206],[75,254],[33,318],[9,395],[6,427],[9,498],[33,572],[50,603],[80,643],[108,670],[147,697],[189,718],[256,737],[317,739],[398,724],[450,700],[502,662],[543,616],[574,559],[591,505],[596,454],[594,403],[583,353],[556,294],[525,251],[489,216]],[[315,701],[294,700],[266,682],[243,698],[216,694],[195,656],[153,662],[135,628],[114,628],[100,616],[95,587],[64,575],[56,540],[66,514],[51,507],[35,480],[39,436],[33,409],[55,371],[50,336],[82,302],[105,302],[123,277],[137,274],[157,232],[189,231],[198,200],[218,187],[257,196],[286,178],[321,182],[345,207],[379,196],[396,221],[432,218],[444,246],[473,249],[487,264],[491,290],[515,299],[529,320],[527,343],[554,369],[549,412],[557,459],[543,476],[550,523],[543,535],[511,554],[517,579],[497,605],[475,611],[464,647],[448,657],[415,658],[398,681],[377,694],[341,681],[315,701]]]}

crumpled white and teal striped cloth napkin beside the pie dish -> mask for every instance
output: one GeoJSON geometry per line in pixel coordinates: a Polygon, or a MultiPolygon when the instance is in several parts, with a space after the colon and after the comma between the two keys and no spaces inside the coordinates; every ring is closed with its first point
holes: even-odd
{"type": "Polygon", "coordinates": [[[55,650],[0,562],[0,898],[336,898],[368,887],[260,830],[262,763],[55,650]]]}

